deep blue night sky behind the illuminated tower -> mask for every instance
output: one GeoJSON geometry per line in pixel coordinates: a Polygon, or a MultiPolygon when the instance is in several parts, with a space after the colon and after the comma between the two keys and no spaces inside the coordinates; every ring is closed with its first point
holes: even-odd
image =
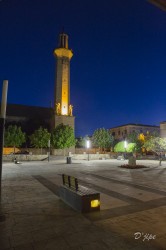
{"type": "Polygon", "coordinates": [[[77,136],[166,120],[166,12],[146,0],[1,0],[0,86],[9,80],[9,103],[53,103],[63,26],[74,51],[77,136]]]}

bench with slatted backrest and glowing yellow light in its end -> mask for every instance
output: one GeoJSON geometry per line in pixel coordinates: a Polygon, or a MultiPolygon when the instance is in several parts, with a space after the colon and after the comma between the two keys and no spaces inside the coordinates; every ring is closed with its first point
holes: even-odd
{"type": "Polygon", "coordinates": [[[100,193],[78,184],[78,179],[62,175],[63,186],[59,188],[60,198],[75,210],[87,213],[100,210],[100,193]]]}

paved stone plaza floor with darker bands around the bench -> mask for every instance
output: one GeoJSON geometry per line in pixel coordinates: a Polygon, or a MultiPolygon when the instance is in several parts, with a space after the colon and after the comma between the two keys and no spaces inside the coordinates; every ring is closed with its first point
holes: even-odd
{"type": "Polygon", "coordinates": [[[166,162],[124,163],[4,163],[0,250],[166,249],[166,162]],[[63,173],[100,192],[100,212],[81,214],[59,199],[63,173]]]}

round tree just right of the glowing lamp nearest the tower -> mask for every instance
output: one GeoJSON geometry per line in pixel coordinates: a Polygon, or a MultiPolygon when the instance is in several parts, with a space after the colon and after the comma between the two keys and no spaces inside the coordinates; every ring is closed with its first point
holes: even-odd
{"type": "Polygon", "coordinates": [[[93,133],[92,141],[94,146],[104,149],[105,152],[105,149],[113,144],[114,138],[108,129],[99,128],[93,133]]]}

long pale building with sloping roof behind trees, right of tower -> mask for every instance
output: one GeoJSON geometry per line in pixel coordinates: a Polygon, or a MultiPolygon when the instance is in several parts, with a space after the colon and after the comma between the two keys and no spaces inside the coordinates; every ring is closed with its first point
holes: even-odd
{"type": "Polygon", "coordinates": [[[147,133],[154,133],[154,132],[160,133],[160,127],[154,125],[129,123],[110,128],[110,133],[114,136],[116,140],[123,140],[127,137],[127,135],[133,132],[144,135],[147,133]]]}

